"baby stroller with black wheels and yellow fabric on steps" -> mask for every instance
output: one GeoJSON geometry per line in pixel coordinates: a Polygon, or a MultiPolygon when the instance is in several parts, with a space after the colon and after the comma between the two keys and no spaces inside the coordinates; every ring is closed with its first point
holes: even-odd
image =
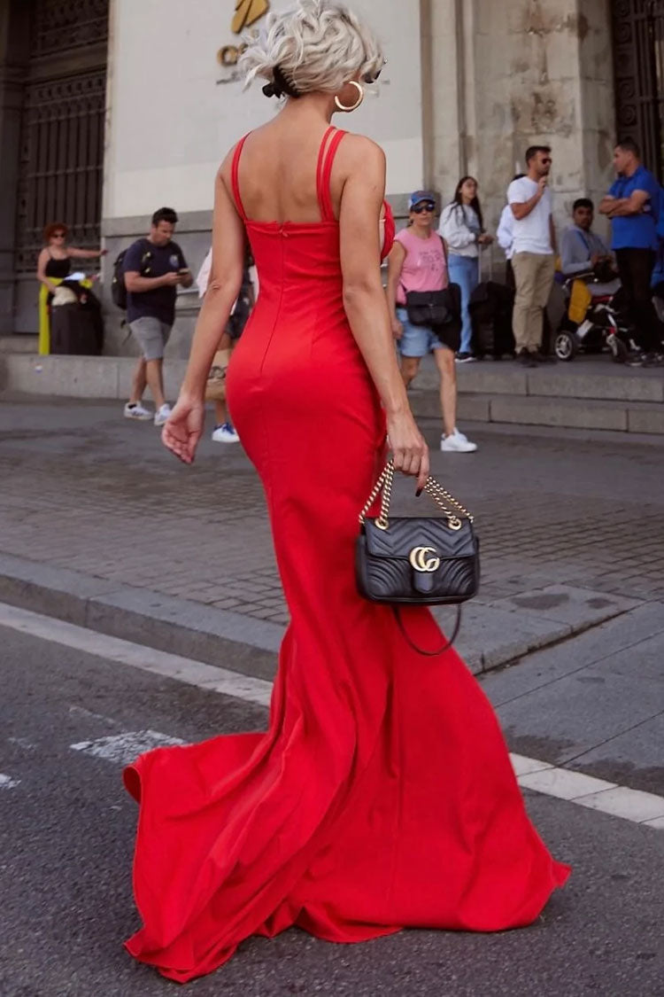
{"type": "MultiPolygon", "coordinates": [[[[573,360],[577,353],[603,353],[608,349],[615,363],[625,363],[635,349],[633,330],[621,311],[624,297],[617,281],[605,294],[588,289],[599,284],[593,271],[576,273],[562,282],[567,308],[553,339],[558,360],[573,360]]],[[[603,286],[603,285],[602,285],[603,286]]]]}

